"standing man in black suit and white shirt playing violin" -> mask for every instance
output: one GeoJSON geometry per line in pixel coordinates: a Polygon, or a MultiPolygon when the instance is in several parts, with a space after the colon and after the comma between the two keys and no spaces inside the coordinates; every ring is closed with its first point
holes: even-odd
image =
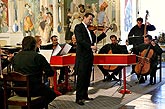
{"type": "Polygon", "coordinates": [[[94,32],[87,28],[92,23],[93,18],[92,13],[86,13],[82,23],[77,24],[74,30],[77,40],[75,65],[77,74],[76,103],[79,105],[84,105],[84,100],[93,100],[93,98],[88,97],[88,87],[93,66],[93,51],[97,49],[94,43],[105,38],[105,33],[109,30],[109,28],[105,28],[103,33],[96,37],[94,32]]]}

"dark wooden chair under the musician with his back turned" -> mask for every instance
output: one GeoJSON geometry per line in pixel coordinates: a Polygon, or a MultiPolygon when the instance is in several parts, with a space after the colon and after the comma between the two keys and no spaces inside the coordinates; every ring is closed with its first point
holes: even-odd
{"type": "Polygon", "coordinates": [[[5,109],[8,109],[8,105],[16,105],[16,106],[21,106],[27,107],[27,109],[37,109],[41,108],[38,107],[43,103],[43,97],[38,96],[38,97],[31,97],[30,95],[30,85],[29,85],[29,76],[23,75],[19,72],[11,72],[8,74],[4,74],[4,107],[5,109]],[[7,83],[11,82],[11,86],[9,87],[7,83]],[[17,87],[14,85],[13,82],[26,82],[25,87],[17,87]],[[7,90],[10,89],[12,92],[14,91],[26,91],[27,96],[26,97],[20,97],[16,95],[15,93],[7,98],[7,90]],[[38,105],[37,105],[38,104],[38,105]],[[36,106],[33,107],[32,106],[36,106]]]}

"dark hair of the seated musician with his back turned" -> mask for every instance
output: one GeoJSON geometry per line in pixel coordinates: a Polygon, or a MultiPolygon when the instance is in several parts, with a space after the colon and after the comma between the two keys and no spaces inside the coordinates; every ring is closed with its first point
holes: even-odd
{"type": "Polygon", "coordinates": [[[26,36],[22,40],[22,50],[23,51],[35,51],[36,40],[32,36],[26,36]]]}

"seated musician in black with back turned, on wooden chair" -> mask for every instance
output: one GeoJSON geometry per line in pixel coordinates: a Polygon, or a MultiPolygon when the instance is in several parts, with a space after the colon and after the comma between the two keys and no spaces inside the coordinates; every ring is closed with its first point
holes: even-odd
{"type": "MultiPolygon", "coordinates": [[[[56,94],[54,91],[43,84],[42,75],[45,72],[47,77],[52,77],[54,71],[50,64],[47,62],[46,58],[38,54],[36,51],[36,40],[32,36],[24,37],[22,41],[22,51],[16,54],[12,60],[12,66],[14,71],[20,72],[22,74],[35,74],[35,76],[30,77],[30,89],[32,96],[43,96],[43,107],[48,106],[48,104],[54,100],[56,94]]],[[[15,83],[15,85],[23,86],[24,83],[15,83]]],[[[19,96],[26,96],[27,93],[24,91],[17,91],[16,94],[19,96]]]]}

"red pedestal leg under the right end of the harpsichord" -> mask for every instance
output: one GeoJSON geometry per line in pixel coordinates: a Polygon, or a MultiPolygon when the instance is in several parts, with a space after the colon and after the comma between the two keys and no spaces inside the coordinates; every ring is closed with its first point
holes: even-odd
{"type": "Polygon", "coordinates": [[[126,88],[126,68],[125,67],[123,68],[123,80],[124,80],[123,81],[124,89],[121,89],[119,91],[119,93],[121,93],[121,94],[131,94],[131,91],[126,88]]]}

